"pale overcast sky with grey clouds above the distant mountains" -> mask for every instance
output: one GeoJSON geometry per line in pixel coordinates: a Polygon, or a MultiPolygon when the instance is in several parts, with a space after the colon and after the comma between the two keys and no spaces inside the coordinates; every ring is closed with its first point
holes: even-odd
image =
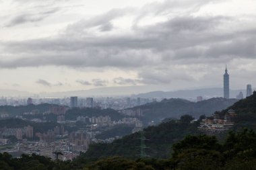
{"type": "MultiPolygon", "coordinates": [[[[0,89],[256,86],[255,0],[0,0],[0,89]]],[[[131,92],[132,93],[132,92],[131,92]]]]}

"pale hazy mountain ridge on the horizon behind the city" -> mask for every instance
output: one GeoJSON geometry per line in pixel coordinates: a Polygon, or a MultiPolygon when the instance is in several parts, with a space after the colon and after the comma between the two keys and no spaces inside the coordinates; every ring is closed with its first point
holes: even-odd
{"type": "MultiPolygon", "coordinates": [[[[152,91],[152,89],[160,89],[160,87],[151,87],[146,85],[138,86],[122,86],[122,87],[98,87],[86,90],[76,90],[76,91],[58,91],[58,92],[41,92],[41,93],[30,93],[28,91],[19,91],[13,89],[0,89],[1,96],[12,96],[12,97],[111,97],[111,96],[131,96],[131,97],[141,97],[141,98],[185,98],[185,99],[195,99],[197,96],[203,96],[205,99],[212,97],[222,97],[222,88],[203,88],[203,89],[186,89],[177,91],[152,91]]],[[[164,88],[166,89],[166,88],[164,88]]],[[[230,89],[230,97],[235,98],[238,93],[242,91],[244,97],[246,95],[245,89],[230,89]]]]}

